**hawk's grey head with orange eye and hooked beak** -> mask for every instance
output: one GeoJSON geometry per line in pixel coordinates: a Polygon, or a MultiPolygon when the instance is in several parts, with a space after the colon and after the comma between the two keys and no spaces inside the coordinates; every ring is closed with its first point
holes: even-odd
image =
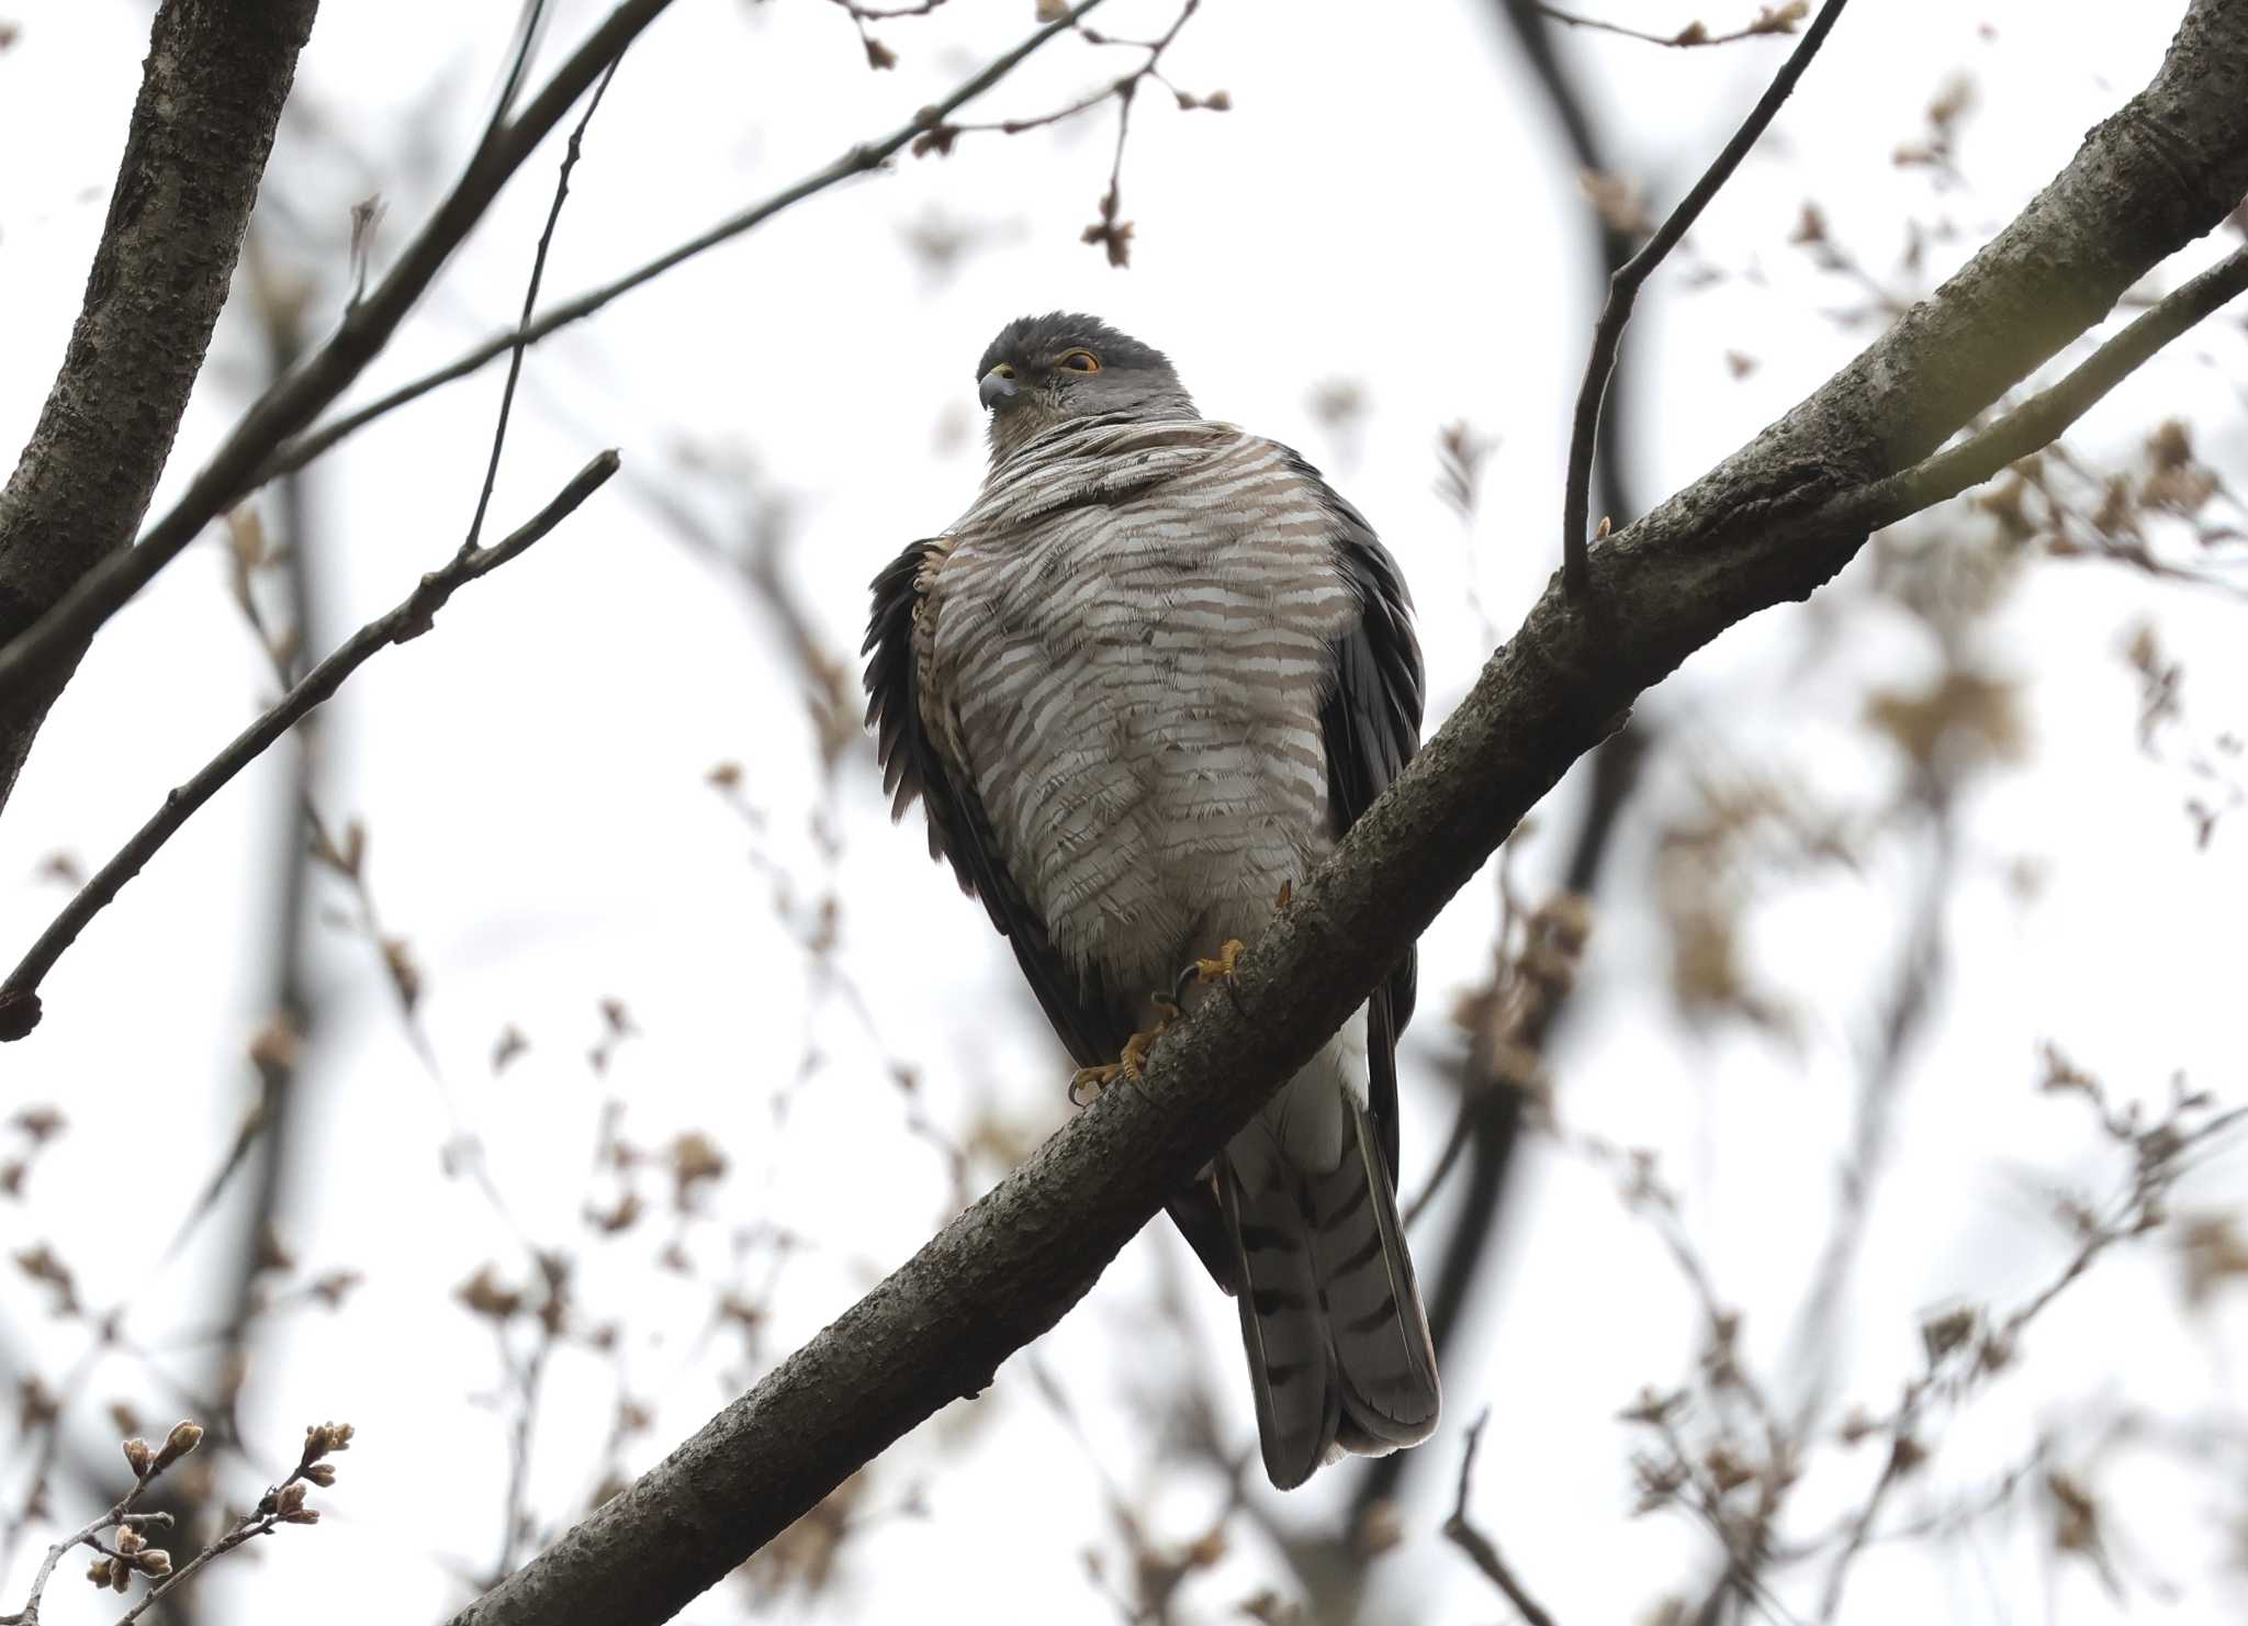
{"type": "Polygon", "coordinates": [[[1072,310],[1003,326],[976,364],[976,396],[991,409],[994,463],[1066,418],[1196,416],[1162,351],[1072,310]]]}

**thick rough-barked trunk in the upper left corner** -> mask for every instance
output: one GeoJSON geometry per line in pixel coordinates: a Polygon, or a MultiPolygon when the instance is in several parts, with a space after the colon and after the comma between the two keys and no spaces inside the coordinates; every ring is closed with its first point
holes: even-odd
{"type": "MultiPolygon", "coordinates": [[[[166,0],[63,369],[0,493],[0,645],[148,511],[243,247],[319,0],[166,0]]],[[[85,652],[0,672],[0,805],[85,652]]]]}

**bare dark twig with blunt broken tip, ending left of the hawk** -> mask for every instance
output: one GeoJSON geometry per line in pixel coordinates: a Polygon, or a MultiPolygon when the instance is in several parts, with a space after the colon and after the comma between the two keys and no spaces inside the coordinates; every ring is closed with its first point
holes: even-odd
{"type": "Polygon", "coordinates": [[[85,931],[85,922],[99,915],[108,902],[117,897],[119,888],[139,875],[142,866],[155,857],[157,848],[162,848],[180,830],[180,825],[184,825],[193,812],[202,807],[202,803],[207,803],[227,780],[256,760],[265,747],[288,733],[290,724],[335,695],[344,679],[373,659],[384,645],[418,639],[429,630],[432,616],[436,616],[454,591],[479,576],[492,573],[562,524],[571,513],[575,513],[578,504],[607,484],[618,466],[620,459],[616,452],[602,452],[578,470],[575,479],[571,479],[571,484],[564,486],[553,502],[540,508],[513,535],[488,549],[477,549],[474,553],[456,553],[443,569],[423,576],[420,585],[407,594],[396,609],[378,621],[369,621],[351,634],[351,639],[337,648],[335,654],[306,672],[303,681],[283,695],[263,717],[238,733],[225,751],[202,767],[200,774],[169,792],[155,816],[151,816],[148,823],[144,823],[133,839],[117,850],[117,857],[103,864],[101,870],[85,882],[83,888],[79,888],[79,895],[70,900],[63,913],[54,918],[54,924],[40,933],[29,954],[25,954],[16,969],[9,972],[7,981],[0,983],[0,1041],[22,1039],[38,1026],[38,985],[47,972],[54,969],[63,949],[76,942],[79,933],[85,931]]]}

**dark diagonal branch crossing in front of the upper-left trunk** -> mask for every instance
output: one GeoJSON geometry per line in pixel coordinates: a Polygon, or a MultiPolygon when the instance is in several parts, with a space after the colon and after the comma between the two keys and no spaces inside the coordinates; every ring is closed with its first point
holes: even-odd
{"type": "MultiPolygon", "coordinates": [[[[335,337],[297,373],[268,389],[243,414],[171,513],[157,520],[135,546],[112,553],[85,571],[29,632],[0,650],[0,693],[29,684],[65,661],[72,650],[83,648],[103,621],[196,540],[211,517],[259,486],[263,479],[259,468],[272,450],[344,394],[351,380],[389,344],[398,324],[420,301],[452,250],[483,218],[508,178],[668,4],[670,0],[623,0],[587,43],[555,70],[531,106],[477,146],[461,180],[454,182],[445,202],[438,205],[429,225],[414,238],[391,274],[382,279],[382,286],[348,310],[335,337]]],[[[510,333],[499,349],[515,344],[528,344],[528,337],[510,333]]],[[[0,1012],[0,1026],[4,1021],[4,1012],[0,1012]]]]}

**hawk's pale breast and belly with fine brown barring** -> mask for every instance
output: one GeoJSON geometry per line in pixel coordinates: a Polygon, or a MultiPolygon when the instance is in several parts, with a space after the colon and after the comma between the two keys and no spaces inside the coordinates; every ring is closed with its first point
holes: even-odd
{"type": "Polygon", "coordinates": [[[1063,954],[1164,985],[1333,846],[1329,524],[1284,448],[1203,421],[1048,436],[962,517],[931,726],[1063,954]]]}

